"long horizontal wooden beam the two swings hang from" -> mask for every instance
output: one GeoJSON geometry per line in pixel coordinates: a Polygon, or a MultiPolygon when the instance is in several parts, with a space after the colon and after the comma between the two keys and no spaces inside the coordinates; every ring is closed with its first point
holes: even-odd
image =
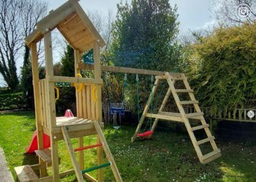
{"type": "MultiPolygon", "coordinates": [[[[94,65],[90,64],[77,64],[77,68],[81,70],[93,70],[94,65]]],[[[139,74],[139,75],[164,75],[166,71],[155,71],[155,70],[145,70],[145,69],[137,69],[137,68],[126,68],[126,67],[114,67],[114,66],[104,66],[101,65],[102,71],[115,72],[115,73],[130,73],[130,74],[139,74]]],[[[170,73],[171,76],[175,76],[177,78],[181,77],[181,73],[170,73]]]]}

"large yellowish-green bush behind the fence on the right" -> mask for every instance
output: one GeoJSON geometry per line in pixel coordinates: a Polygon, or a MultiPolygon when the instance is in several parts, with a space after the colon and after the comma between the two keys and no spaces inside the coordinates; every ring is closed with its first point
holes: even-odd
{"type": "Polygon", "coordinates": [[[255,106],[256,23],[219,27],[187,52],[187,73],[201,106],[255,106]]]}

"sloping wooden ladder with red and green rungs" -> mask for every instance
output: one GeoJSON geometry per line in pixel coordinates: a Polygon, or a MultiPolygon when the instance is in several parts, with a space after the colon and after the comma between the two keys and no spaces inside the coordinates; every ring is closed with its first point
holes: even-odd
{"type": "MultiPolygon", "coordinates": [[[[111,167],[111,170],[113,172],[113,175],[114,175],[116,181],[118,181],[118,182],[122,181],[122,178],[121,178],[121,176],[118,172],[118,168],[116,167],[116,163],[114,161],[114,158],[111,154],[110,148],[108,147],[107,140],[105,139],[104,134],[102,133],[102,130],[101,130],[100,125],[99,125],[98,122],[94,122],[94,128],[96,130],[97,136],[99,137],[99,144],[89,145],[89,146],[86,146],[86,147],[73,149],[72,144],[71,144],[70,139],[69,139],[69,134],[68,134],[68,131],[67,131],[68,127],[67,126],[62,126],[61,127],[61,131],[62,131],[62,134],[63,134],[63,137],[64,137],[64,141],[65,141],[65,144],[67,146],[67,150],[69,151],[72,166],[73,166],[73,169],[75,170],[75,174],[77,175],[78,182],[84,181],[83,175],[86,175],[87,178],[88,177],[90,178],[90,176],[88,175],[88,172],[91,172],[92,170],[97,170],[97,169],[100,170],[103,167],[108,167],[108,166],[111,167]],[[75,152],[76,151],[87,150],[89,148],[95,148],[95,147],[102,147],[104,149],[105,154],[106,154],[107,159],[108,159],[108,162],[104,163],[104,164],[100,164],[99,166],[91,167],[89,169],[81,170],[80,166],[79,166],[79,163],[78,163],[77,159],[75,158],[75,152]]],[[[94,181],[94,180],[92,180],[92,181],[94,181]]]]}

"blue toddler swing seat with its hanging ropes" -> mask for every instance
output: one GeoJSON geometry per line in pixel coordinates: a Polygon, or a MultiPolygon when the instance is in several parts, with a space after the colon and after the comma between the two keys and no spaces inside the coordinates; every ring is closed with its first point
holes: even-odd
{"type": "Polygon", "coordinates": [[[113,128],[119,129],[121,128],[121,118],[125,115],[125,108],[124,108],[124,90],[127,86],[127,74],[124,75],[124,89],[123,89],[123,101],[121,107],[115,107],[114,103],[111,103],[111,96],[110,96],[110,82],[108,81],[108,73],[106,72],[105,78],[107,80],[107,90],[108,90],[108,98],[110,102],[110,115],[113,116],[113,128]],[[119,116],[119,125],[118,125],[118,117],[119,116]]]}

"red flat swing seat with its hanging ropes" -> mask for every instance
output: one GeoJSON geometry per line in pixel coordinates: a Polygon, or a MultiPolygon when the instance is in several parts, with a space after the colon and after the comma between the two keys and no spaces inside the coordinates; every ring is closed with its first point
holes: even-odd
{"type": "MultiPolygon", "coordinates": [[[[138,74],[136,75],[136,84],[137,84],[137,111],[138,111],[138,122],[140,122],[140,96],[139,96],[139,79],[138,79],[138,74]]],[[[152,90],[153,90],[153,85],[154,85],[154,77],[151,75],[151,95],[152,95],[152,90]]],[[[153,100],[151,100],[151,113],[153,111],[153,100]]],[[[148,122],[146,123],[145,128],[148,126],[148,122]]],[[[150,136],[151,134],[154,133],[154,131],[151,130],[152,127],[152,118],[150,118],[150,128],[148,131],[144,131],[137,134],[138,137],[146,137],[150,136]]]]}

